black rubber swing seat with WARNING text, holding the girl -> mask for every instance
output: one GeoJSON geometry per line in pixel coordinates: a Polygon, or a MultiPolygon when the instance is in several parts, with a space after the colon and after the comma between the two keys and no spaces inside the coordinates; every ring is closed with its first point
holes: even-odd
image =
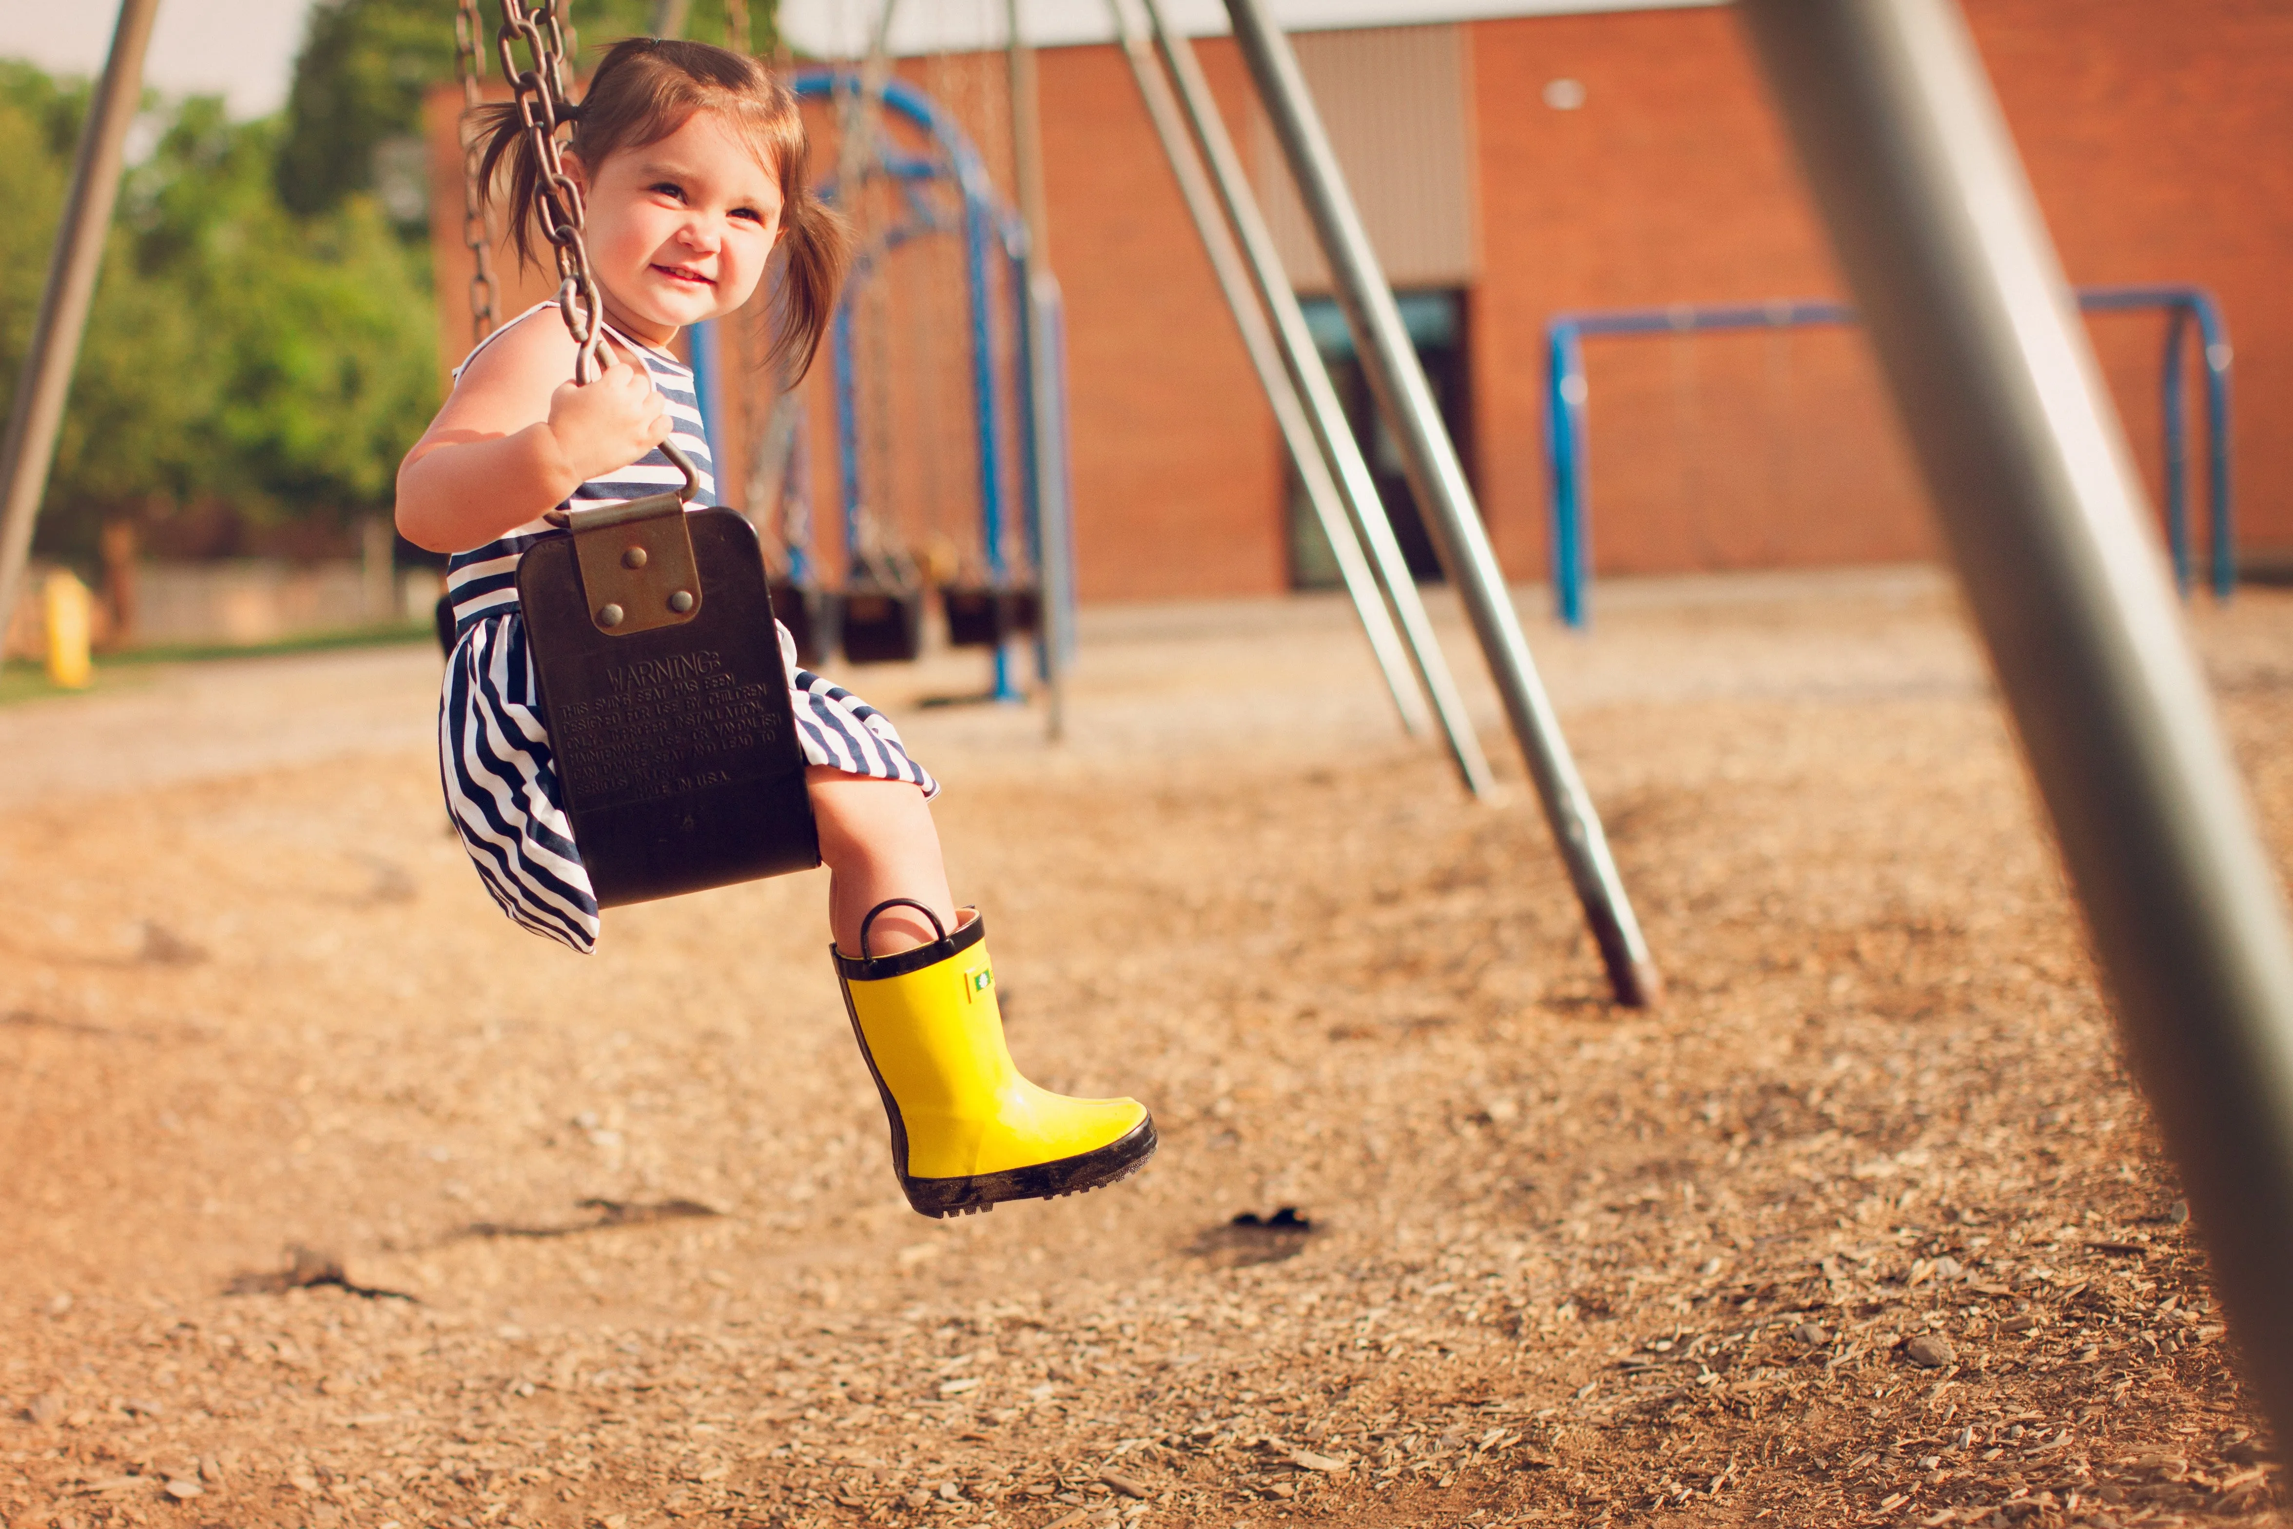
{"type": "Polygon", "coordinates": [[[816,867],[754,527],[674,493],[550,518],[518,601],[598,908],[816,867]]]}

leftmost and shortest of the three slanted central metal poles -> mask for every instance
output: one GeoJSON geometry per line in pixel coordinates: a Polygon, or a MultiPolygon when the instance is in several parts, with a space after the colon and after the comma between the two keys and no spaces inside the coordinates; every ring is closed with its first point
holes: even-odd
{"type": "MultiPolygon", "coordinates": [[[[1408,681],[1408,660],[1401,653],[1401,637],[1394,633],[1394,621],[1385,610],[1385,598],[1378,594],[1369,564],[1362,559],[1362,548],[1353,539],[1346,511],[1339,509],[1337,484],[1330,481],[1330,468],[1323,463],[1321,449],[1314,445],[1314,431],[1305,420],[1305,408],[1298,403],[1298,392],[1282,371],[1282,360],[1275,353],[1275,339],[1266,330],[1266,316],[1259,312],[1257,298],[1250,296],[1250,277],[1243,275],[1243,261],[1234,252],[1234,238],[1227,234],[1227,225],[1220,222],[1218,204],[1211,199],[1211,188],[1202,179],[1202,165],[1195,163],[1195,154],[1188,149],[1185,126],[1179,121],[1179,108],[1169,99],[1169,85],[1156,69],[1146,44],[1130,28],[1130,18],[1124,14],[1121,0],[1108,0],[1108,9],[1114,14],[1114,30],[1121,37],[1124,57],[1130,60],[1130,76],[1137,80],[1140,96],[1146,101],[1146,117],[1153,121],[1153,131],[1163,140],[1163,151],[1169,156],[1172,174],[1179,179],[1179,195],[1185,199],[1185,211],[1195,218],[1195,232],[1202,234],[1202,248],[1211,257],[1211,273],[1218,277],[1218,289],[1224,293],[1227,309],[1234,314],[1234,328],[1243,332],[1243,351],[1250,353],[1250,364],[1259,374],[1266,401],[1275,410],[1275,426],[1282,431],[1282,442],[1289,447],[1291,463],[1298,468],[1298,481],[1305,488],[1307,504],[1314,509],[1323,534],[1330,539],[1330,552],[1337,557],[1337,573],[1346,585],[1346,594],[1353,598],[1355,614],[1362,619],[1362,635],[1369,637],[1369,651],[1378,660],[1378,674],[1385,676],[1385,688],[1392,692],[1394,706],[1401,711],[1401,727],[1410,734],[1419,734],[1424,731],[1426,713],[1417,701],[1417,690],[1408,681]]],[[[1479,791],[1470,777],[1468,786],[1479,791]]]]}

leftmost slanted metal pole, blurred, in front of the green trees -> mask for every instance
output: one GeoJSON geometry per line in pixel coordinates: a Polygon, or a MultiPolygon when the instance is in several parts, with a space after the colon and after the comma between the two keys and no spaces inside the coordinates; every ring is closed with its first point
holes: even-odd
{"type": "Polygon", "coordinates": [[[71,195],[55,227],[55,254],[48,257],[48,287],[39,296],[32,348],[16,378],[7,438],[0,440],[0,633],[7,633],[9,612],[16,610],[16,587],[32,550],[32,520],[48,491],[55,433],[64,426],[64,399],[71,394],[71,367],[80,360],[87,307],[96,298],[103,234],[112,227],[112,202],[119,199],[119,160],[126,154],[128,124],[142,105],[142,55],[151,44],[156,14],[158,0],[119,5],[112,53],[87,103],[87,121],[80,124],[71,195]]]}

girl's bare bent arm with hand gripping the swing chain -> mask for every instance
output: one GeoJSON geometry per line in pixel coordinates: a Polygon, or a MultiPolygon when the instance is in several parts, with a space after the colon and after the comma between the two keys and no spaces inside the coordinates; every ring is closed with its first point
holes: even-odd
{"type": "Polygon", "coordinates": [[[399,534],[465,552],[667,440],[670,408],[651,374],[610,346],[603,360],[594,383],[569,383],[573,337],[546,314],[479,351],[399,463],[399,534]]]}

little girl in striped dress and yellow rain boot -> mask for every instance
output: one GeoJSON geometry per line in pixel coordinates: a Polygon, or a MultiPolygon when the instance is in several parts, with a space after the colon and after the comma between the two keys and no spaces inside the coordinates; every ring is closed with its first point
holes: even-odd
{"type": "MultiPolygon", "coordinates": [[[[796,96],[754,60],[688,41],[631,39],[598,66],[564,147],[587,204],[603,296],[605,364],[576,385],[555,305],[486,337],[399,468],[399,532],[452,552],[456,642],[438,711],[447,809],[486,889],[514,922],[576,951],[598,917],[564,811],[548,718],[518,617],[516,569],[543,516],[681,481],[674,440],[713,493],[692,374],[670,353],[688,323],[748,303],[782,259],[770,367],[800,376],[846,264],[844,225],[807,186],[796,96]]],[[[511,238],[534,252],[539,165],[514,108],[484,126],[484,183],[507,163],[511,238]]],[[[828,862],[830,956],[860,1054],[892,1123],[892,1167],[924,1215],[1094,1190],[1153,1153],[1128,1098],[1048,1093],[1004,1050],[986,928],[947,889],[929,798],[938,782],[860,697],[780,649],[828,862]]]]}

